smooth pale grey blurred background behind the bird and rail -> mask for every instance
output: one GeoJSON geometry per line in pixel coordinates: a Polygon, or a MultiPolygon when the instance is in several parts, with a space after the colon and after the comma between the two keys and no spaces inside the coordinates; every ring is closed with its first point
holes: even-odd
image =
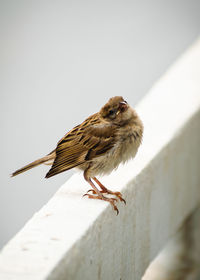
{"type": "Polygon", "coordinates": [[[111,96],[134,106],[197,38],[199,12],[199,0],[0,1],[0,247],[72,171],[9,174],[111,96]]]}

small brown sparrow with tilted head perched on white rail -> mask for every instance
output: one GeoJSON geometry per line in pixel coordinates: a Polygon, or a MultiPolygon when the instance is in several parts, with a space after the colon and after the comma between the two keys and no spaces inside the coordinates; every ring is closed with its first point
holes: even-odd
{"type": "Polygon", "coordinates": [[[107,189],[96,176],[109,174],[121,162],[135,157],[142,134],[143,124],[135,110],[121,96],[115,96],[98,113],[70,130],[50,154],[18,169],[12,176],[42,163],[52,165],[46,178],[76,167],[83,171],[85,180],[92,187],[88,191],[92,194],[87,192],[84,196],[108,201],[118,214],[117,200],[125,203],[121,193],[107,189]]]}

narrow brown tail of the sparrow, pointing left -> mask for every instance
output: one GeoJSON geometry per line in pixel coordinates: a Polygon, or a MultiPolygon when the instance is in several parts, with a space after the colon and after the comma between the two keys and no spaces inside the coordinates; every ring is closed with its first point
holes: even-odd
{"type": "Polygon", "coordinates": [[[53,151],[50,154],[48,154],[47,156],[39,158],[39,159],[37,159],[37,160],[35,160],[35,161],[25,165],[24,167],[16,170],[15,172],[13,172],[11,174],[11,177],[19,175],[19,174],[21,174],[21,173],[23,173],[23,172],[25,172],[25,171],[33,168],[33,167],[36,167],[36,166],[38,166],[38,165],[40,165],[42,163],[44,163],[44,164],[52,164],[54,159],[55,159],[55,155],[56,155],[56,153],[53,151]]]}

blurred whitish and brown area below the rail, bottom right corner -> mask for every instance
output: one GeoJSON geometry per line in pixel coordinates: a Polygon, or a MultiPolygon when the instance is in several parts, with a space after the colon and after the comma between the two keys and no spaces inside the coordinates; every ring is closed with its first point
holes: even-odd
{"type": "Polygon", "coordinates": [[[142,280],[200,279],[200,207],[184,221],[178,232],[147,268],[142,280]]]}

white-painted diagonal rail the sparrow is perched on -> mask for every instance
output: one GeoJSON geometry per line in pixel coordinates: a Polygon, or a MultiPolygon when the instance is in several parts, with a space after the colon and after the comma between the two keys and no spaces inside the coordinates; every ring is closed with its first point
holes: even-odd
{"type": "Polygon", "coordinates": [[[82,198],[76,174],[0,254],[0,279],[141,279],[200,200],[200,41],[137,106],[144,122],[134,161],[102,182],[127,205],[82,198]]]}

